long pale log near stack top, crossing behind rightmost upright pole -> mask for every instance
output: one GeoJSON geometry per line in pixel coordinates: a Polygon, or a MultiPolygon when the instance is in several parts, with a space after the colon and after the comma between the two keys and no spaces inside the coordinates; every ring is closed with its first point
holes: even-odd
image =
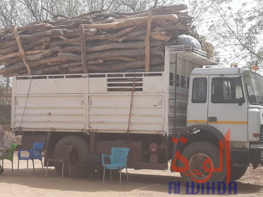
{"type": "MultiPolygon", "coordinates": [[[[117,29],[121,27],[129,27],[135,25],[143,25],[147,24],[148,17],[137,17],[137,18],[128,18],[123,19],[118,22],[108,23],[108,24],[83,24],[84,28],[96,28],[100,30],[107,29],[117,29]]],[[[177,22],[179,20],[176,14],[167,14],[167,15],[157,15],[152,17],[153,22],[157,21],[174,21],[177,22]]]]}

